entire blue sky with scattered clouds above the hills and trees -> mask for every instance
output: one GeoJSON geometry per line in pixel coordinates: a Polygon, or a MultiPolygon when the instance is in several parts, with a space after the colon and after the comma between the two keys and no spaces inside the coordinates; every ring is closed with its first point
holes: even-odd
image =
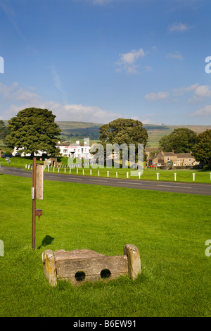
{"type": "Polygon", "coordinates": [[[1,0],[0,119],[34,106],[58,121],[211,125],[210,11],[210,0],[1,0]]]}

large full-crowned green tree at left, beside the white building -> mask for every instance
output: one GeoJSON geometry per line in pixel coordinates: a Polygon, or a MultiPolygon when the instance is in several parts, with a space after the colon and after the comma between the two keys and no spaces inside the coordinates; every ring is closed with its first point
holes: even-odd
{"type": "Polygon", "coordinates": [[[34,156],[37,151],[56,155],[56,142],[61,130],[55,123],[56,115],[52,111],[41,108],[25,108],[8,120],[10,133],[6,144],[13,148],[23,148],[24,154],[34,156]]]}

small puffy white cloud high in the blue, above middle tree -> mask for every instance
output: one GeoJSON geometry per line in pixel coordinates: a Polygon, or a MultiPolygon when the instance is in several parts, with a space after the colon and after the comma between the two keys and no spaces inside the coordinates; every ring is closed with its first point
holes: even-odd
{"type": "Polygon", "coordinates": [[[117,61],[117,65],[120,68],[117,68],[117,72],[125,70],[127,73],[137,73],[139,65],[135,64],[139,58],[143,58],[146,53],[143,49],[139,49],[138,51],[132,50],[128,53],[120,54],[120,60],[117,61]]]}

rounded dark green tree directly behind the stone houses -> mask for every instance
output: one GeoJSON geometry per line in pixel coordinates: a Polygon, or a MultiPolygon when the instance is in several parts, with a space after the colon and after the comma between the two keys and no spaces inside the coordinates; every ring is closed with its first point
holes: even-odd
{"type": "Polygon", "coordinates": [[[197,134],[186,127],[174,129],[170,135],[160,139],[160,147],[163,151],[174,153],[189,153],[196,144],[197,134]]]}

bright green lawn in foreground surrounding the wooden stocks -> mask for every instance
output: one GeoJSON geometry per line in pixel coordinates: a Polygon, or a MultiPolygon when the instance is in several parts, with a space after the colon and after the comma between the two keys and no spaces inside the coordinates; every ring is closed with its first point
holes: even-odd
{"type": "Polygon", "coordinates": [[[210,196],[44,180],[43,216],[31,246],[32,180],[0,175],[0,316],[211,316],[210,196]],[[53,288],[45,249],[141,254],[141,276],[53,288]]]}

